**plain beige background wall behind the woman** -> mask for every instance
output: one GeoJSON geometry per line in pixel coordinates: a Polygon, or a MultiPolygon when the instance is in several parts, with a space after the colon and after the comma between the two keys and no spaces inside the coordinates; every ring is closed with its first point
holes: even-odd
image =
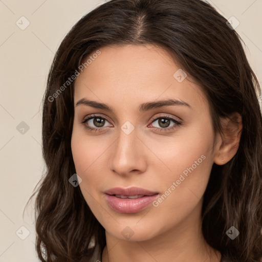
{"type": "MultiPolygon", "coordinates": [[[[0,0],[0,262],[37,261],[32,207],[24,219],[22,215],[44,168],[40,103],[47,74],[65,34],[104,2],[0,0]],[[21,30],[26,19],[30,25],[21,30]],[[26,126],[28,130],[19,129],[26,126]]],[[[234,16],[240,22],[236,31],[247,45],[248,59],[262,85],[262,1],[208,2],[227,19],[234,16]]]]}

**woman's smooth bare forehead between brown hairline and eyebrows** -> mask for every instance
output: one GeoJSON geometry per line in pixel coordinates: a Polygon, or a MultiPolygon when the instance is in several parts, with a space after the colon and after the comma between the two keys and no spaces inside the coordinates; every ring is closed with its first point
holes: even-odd
{"type": "Polygon", "coordinates": [[[169,53],[152,45],[107,46],[83,59],[88,66],[75,82],[75,103],[84,97],[108,104],[135,106],[145,101],[181,99],[192,107],[207,106],[201,87],[169,53]],[[184,79],[184,80],[183,80],[184,79]],[[182,81],[181,81],[182,80],[182,81]]]}

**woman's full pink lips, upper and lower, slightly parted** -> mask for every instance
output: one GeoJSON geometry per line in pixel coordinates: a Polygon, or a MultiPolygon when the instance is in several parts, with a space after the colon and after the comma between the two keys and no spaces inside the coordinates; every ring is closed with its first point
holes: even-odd
{"type": "Polygon", "coordinates": [[[120,188],[115,187],[105,192],[105,199],[108,205],[119,213],[136,213],[144,209],[151,202],[153,202],[158,192],[152,192],[139,187],[120,188]],[[144,195],[141,198],[136,199],[121,199],[115,197],[115,194],[121,195],[144,195]]]}

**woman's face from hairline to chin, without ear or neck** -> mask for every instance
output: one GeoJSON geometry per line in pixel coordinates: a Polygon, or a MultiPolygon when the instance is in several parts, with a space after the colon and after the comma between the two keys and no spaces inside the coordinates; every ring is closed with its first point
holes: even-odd
{"type": "Polygon", "coordinates": [[[75,82],[71,146],[86,203],[107,233],[123,240],[195,226],[216,138],[200,86],[163,49],[100,52],[75,82]],[[108,191],[116,187],[150,192],[108,191]]]}

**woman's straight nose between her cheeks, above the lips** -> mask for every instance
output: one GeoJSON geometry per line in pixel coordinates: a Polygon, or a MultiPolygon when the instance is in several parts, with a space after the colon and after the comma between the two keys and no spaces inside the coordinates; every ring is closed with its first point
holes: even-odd
{"type": "Polygon", "coordinates": [[[143,173],[146,170],[146,146],[135,128],[130,134],[119,130],[119,137],[111,147],[110,169],[120,176],[143,173]]]}

